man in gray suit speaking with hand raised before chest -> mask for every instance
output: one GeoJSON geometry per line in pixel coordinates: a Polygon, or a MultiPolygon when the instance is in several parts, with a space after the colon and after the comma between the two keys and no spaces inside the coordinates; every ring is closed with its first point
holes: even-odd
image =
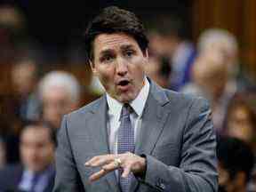
{"type": "Polygon", "coordinates": [[[140,20],[105,8],[86,29],[85,44],[107,93],[63,117],[54,191],[217,191],[209,106],[145,76],[140,20]]]}

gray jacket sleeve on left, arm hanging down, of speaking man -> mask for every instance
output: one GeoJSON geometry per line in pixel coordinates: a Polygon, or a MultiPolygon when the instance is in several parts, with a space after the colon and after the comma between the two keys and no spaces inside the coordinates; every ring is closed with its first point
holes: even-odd
{"type": "Polygon", "coordinates": [[[84,191],[76,169],[76,162],[68,138],[68,117],[64,116],[58,132],[58,146],[55,152],[56,176],[54,192],[84,191]]]}

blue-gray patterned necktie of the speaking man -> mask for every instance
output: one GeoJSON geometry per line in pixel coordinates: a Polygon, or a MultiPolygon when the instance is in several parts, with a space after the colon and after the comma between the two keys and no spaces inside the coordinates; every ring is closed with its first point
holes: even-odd
{"type": "MultiPolygon", "coordinates": [[[[123,154],[126,152],[134,153],[134,129],[130,120],[131,107],[128,104],[124,104],[120,116],[121,124],[118,130],[118,143],[117,153],[123,154]]],[[[127,178],[121,177],[123,170],[119,170],[119,183],[122,192],[128,192],[130,181],[132,179],[132,173],[127,178]]]]}

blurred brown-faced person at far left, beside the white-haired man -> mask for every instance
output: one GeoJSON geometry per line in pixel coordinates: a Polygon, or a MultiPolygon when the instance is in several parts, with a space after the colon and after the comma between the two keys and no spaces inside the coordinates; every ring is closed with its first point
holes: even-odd
{"type": "Polygon", "coordinates": [[[36,94],[37,67],[34,60],[19,60],[12,67],[12,84],[17,96],[15,112],[22,122],[39,117],[40,104],[36,94]]]}

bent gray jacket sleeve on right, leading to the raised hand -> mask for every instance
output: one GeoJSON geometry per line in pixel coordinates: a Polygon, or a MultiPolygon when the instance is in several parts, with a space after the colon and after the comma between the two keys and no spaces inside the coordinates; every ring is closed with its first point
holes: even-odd
{"type": "MultiPolygon", "coordinates": [[[[215,192],[218,190],[216,137],[207,101],[191,101],[183,130],[180,166],[168,166],[156,157],[147,158],[142,182],[157,191],[215,192]]],[[[141,179],[140,179],[141,181],[141,179]]]]}

